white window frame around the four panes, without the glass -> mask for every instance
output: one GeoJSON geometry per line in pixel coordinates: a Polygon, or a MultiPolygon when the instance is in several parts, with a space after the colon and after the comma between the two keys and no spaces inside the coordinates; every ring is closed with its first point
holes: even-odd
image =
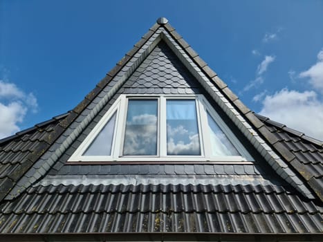
{"type": "Polygon", "coordinates": [[[93,128],[81,145],[76,149],[68,162],[104,162],[104,161],[214,161],[214,162],[241,162],[254,161],[250,153],[234,136],[234,133],[223,122],[218,113],[207,102],[203,95],[120,95],[118,100],[111,106],[109,111],[103,115],[98,124],[93,128]],[[127,106],[129,99],[156,99],[158,100],[158,131],[157,131],[157,155],[156,156],[122,156],[124,145],[124,132],[127,121],[127,106]],[[168,156],[167,155],[167,100],[195,100],[196,117],[199,129],[200,156],[168,156]],[[113,140],[110,156],[82,156],[86,149],[91,145],[93,139],[102,130],[112,115],[116,113],[116,124],[113,131],[113,140]],[[212,156],[210,131],[207,124],[207,112],[212,116],[216,124],[222,129],[232,145],[237,149],[241,156],[212,156]]]}

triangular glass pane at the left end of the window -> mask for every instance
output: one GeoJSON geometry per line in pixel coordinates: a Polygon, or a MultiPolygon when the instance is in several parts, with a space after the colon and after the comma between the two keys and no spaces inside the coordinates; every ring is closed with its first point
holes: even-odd
{"type": "Polygon", "coordinates": [[[83,156],[110,156],[113,140],[114,125],[116,123],[116,113],[105,124],[103,129],[95,137],[91,145],[83,153],[83,156]]]}

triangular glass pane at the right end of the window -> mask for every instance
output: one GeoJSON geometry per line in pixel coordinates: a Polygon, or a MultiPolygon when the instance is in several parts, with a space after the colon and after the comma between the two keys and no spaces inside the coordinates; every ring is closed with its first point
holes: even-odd
{"type": "Polygon", "coordinates": [[[232,142],[216,124],[210,113],[207,113],[207,122],[210,127],[211,146],[213,156],[240,156],[232,142]]]}

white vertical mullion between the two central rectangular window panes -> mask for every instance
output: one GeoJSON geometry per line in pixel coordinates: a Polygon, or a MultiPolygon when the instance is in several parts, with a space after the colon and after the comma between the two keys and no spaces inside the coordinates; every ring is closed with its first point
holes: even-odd
{"type": "Polygon", "coordinates": [[[159,133],[159,152],[160,157],[165,157],[167,154],[167,124],[166,124],[166,98],[160,97],[160,109],[159,109],[159,117],[158,122],[160,125],[160,133],[159,133]]]}

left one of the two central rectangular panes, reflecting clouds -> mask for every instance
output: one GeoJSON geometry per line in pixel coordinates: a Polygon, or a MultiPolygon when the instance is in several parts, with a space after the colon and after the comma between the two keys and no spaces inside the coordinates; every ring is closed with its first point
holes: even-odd
{"type": "Polygon", "coordinates": [[[129,100],[124,156],[157,155],[157,100],[129,100]]]}

